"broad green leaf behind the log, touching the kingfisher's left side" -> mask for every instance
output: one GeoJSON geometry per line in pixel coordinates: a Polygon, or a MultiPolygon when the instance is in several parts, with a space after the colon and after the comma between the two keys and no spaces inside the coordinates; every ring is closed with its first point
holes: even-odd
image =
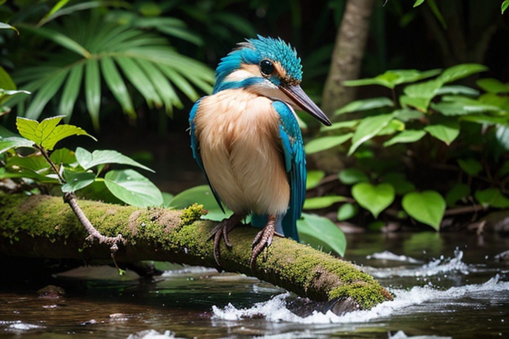
{"type": "Polygon", "coordinates": [[[224,208],[224,212],[221,210],[208,185],[196,186],[177,194],[169,202],[169,207],[186,208],[196,202],[202,204],[208,211],[206,215],[202,216],[202,219],[221,221],[229,218],[233,214],[233,212],[226,207],[224,208]]]}

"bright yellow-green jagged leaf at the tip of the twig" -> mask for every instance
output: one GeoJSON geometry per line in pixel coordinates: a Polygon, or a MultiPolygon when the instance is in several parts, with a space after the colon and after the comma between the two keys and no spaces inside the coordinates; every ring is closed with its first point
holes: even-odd
{"type": "Polygon", "coordinates": [[[73,125],[57,126],[60,120],[62,120],[61,115],[46,118],[40,123],[36,120],[17,117],[16,127],[23,137],[32,140],[47,150],[52,150],[57,142],[73,135],[86,135],[96,140],[79,127],[73,125]]]}

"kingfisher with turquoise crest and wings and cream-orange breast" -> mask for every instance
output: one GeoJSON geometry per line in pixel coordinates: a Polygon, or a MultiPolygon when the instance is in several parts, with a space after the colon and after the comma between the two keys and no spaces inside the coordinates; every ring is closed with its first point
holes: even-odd
{"type": "Polygon", "coordinates": [[[220,267],[221,237],[249,214],[262,228],[252,242],[249,266],[274,235],[299,241],[296,222],[305,199],[306,160],[295,110],[331,122],[300,87],[297,52],[280,38],[258,36],[221,58],[212,94],[189,114],[191,149],[217,200],[234,213],[213,229],[220,267]]]}

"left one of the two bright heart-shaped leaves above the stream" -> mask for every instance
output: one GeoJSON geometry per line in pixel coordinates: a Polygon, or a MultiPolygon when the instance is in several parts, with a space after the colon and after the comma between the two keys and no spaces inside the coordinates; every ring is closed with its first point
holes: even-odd
{"type": "Polygon", "coordinates": [[[369,210],[375,218],[394,201],[394,188],[389,183],[373,186],[370,182],[359,182],[352,187],[352,196],[363,208],[369,210]]]}

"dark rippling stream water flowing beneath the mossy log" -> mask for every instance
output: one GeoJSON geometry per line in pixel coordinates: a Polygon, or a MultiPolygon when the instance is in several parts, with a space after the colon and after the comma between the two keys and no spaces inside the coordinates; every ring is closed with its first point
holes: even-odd
{"type": "Polygon", "coordinates": [[[208,268],[150,281],[75,269],[51,280],[60,297],[39,296],[37,280],[0,284],[0,338],[509,338],[509,264],[497,259],[507,250],[497,235],[348,235],[345,258],[395,299],[342,316],[299,317],[285,290],[208,268]]]}

